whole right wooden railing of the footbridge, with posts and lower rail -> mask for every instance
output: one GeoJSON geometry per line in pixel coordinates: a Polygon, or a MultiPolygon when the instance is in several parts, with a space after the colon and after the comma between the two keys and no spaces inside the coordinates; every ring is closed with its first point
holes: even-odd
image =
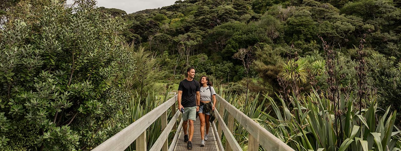
{"type": "MultiPolygon", "coordinates": [[[[223,131],[227,143],[226,151],[241,151],[241,147],[235,140],[232,132],[234,128],[234,119],[241,124],[249,133],[248,135],[248,151],[258,151],[259,144],[267,151],[294,151],[290,146],[285,144],[283,141],[275,137],[273,134],[269,133],[265,128],[261,127],[257,122],[253,121],[243,112],[235,108],[224,98],[216,95],[216,103],[219,103],[219,111],[215,110],[216,119],[218,121],[219,127],[217,129],[216,135],[221,137],[221,131],[223,131]],[[228,122],[225,124],[223,117],[224,110],[228,111],[228,122]]],[[[219,149],[224,150],[222,146],[219,149]]]]}

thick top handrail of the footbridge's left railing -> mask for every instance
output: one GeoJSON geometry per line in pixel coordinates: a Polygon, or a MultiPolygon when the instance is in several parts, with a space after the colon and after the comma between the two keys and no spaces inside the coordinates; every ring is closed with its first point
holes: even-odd
{"type": "MultiPolygon", "coordinates": [[[[156,121],[164,112],[166,112],[173,104],[176,103],[177,95],[170,98],[160,106],[154,108],[148,114],[142,116],[132,124],[128,125],[125,129],[119,131],[99,146],[92,149],[92,151],[124,151],[132,144],[140,135],[148,129],[148,127],[156,121]]],[[[174,109],[175,110],[175,107],[174,109]]],[[[180,114],[181,112],[178,112],[180,114]]],[[[175,114],[176,115],[176,114],[175,114]]],[[[174,115],[174,117],[176,117],[174,115]]],[[[176,121],[176,119],[172,119],[176,121]]],[[[145,136],[146,137],[146,136],[145,136]]]]}

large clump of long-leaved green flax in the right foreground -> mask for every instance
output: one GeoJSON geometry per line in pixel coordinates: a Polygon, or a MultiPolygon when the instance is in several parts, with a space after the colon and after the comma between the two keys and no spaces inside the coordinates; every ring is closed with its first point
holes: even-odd
{"type": "Polygon", "coordinates": [[[369,108],[354,110],[352,93],[346,100],[340,95],[339,109],[341,114],[338,120],[334,119],[335,107],[330,99],[319,96],[316,91],[308,97],[298,100],[292,109],[286,107],[280,99],[282,107],[278,106],[273,98],[265,96],[275,113],[275,117],[267,116],[264,127],[277,138],[298,151],[399,151],[401,141],[399,130],[395,130],[394,122],[396,111],[379,117],[376,112],[377,103],[372,101],[369,108]],[[340,120],[342,124],[340,124],[340,120]],[[363,123],[361,126],[359,122],[363,123]],[[343,134],[338,138],[335,125],[342,127],[343,134]],[[343,140],[343,141],[342,141],[343,140]],[[339,146],[336,144],[340,144],[339,146]]]}

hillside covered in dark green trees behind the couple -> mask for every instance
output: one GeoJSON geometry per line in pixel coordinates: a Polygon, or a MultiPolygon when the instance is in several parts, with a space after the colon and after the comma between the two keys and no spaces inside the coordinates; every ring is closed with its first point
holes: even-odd
{"type": "Polygon", "coordinates": [[[180,80],[194,66],[198,76],[234,82],[231,90],[241,93],[248,73],[252,92],[274,94],[285,92],[283,84],[291,79],[280,79],[283,65],[296,58],[300,93],[311,86],[327,90],[323,40],[336,53],[337,85],[358,89],[355,67],[363,57],[367,94],[400,110],[399,6],[391,0],[178,0],[132,14],[101,9],[126,21],[127,43],[161,58],[166,79],[180,80]]]}

